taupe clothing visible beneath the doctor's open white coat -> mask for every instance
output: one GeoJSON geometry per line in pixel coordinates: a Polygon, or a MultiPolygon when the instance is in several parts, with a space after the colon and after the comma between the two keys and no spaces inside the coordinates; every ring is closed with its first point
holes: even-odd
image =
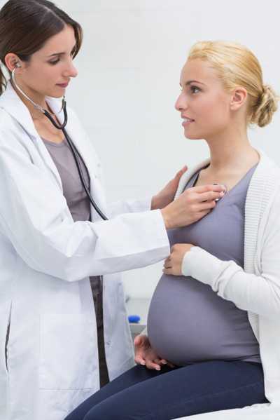
{"type": "MultiPolygon", "coordinates": [[[[85,194],[83,184],[78,175],[76,162],[69,144],[64,139],[61,143],[54,143],[42,139],[45,147],[48,149],[52,160],[54,161],[59,175],[62,179],[63,194],[66,198],[67,205],[71,212],[74,222],[78,220],[90,220],[90,201],[85,194]]],[[[90,189],[90,177],[85,167],[83,159],[78,157],[83,177],[90,189]]],[[[103,305],[102,305],[102,277],[90,277],[90,285],[92,288],[92,297],[94,299],[94,308],[97,318],[97,338],[99,352],[99,372],[101,386],[109,382],[109,375],[106,365],[106,356],[104,348],[104,326],[103,326],[103,305]]]]}

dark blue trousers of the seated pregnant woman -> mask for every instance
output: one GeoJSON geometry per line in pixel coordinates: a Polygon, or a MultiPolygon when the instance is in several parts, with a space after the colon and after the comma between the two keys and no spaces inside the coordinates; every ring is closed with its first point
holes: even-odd
{"type": "Polygon", "coordinates": [[[267,400],[258,363],[211,361],[160,372],[136,366],[66,420],[170,420],[262,402],[267,400]]]}

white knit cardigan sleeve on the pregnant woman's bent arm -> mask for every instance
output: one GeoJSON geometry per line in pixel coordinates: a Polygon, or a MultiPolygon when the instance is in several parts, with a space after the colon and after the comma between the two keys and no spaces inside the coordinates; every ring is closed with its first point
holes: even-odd
{"type": "Polygon", "coordinates": [[[280,315],[280,198],[276,196],[262,239],[261,273],[246,273],[234,261],[222,261],[194,246],[186,252],[182,273],[211,286],[239,309],[268,318],[280,315]]]}

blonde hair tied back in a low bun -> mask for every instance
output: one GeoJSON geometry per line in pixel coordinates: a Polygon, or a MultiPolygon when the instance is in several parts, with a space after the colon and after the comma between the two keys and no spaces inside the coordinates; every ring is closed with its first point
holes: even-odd
{"type": "Polygon", "coordinates": [[[242,86],[248,93],[248,124],[264,127],[272,121],[279,97],[262,81],[258,59],[245,46],[227,41],[201,41],[190,49],[188,60],[211,63],[226,90],[242,86]]]}

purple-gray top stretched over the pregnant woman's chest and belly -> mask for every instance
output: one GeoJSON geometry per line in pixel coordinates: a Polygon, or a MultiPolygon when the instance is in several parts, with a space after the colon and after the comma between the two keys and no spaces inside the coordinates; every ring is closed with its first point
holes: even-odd
{"type": "MultiPolygon", "coordinates": [[[[208,215],[169,231],[170,245],[192,243],[244,268],[244,208],[255,168],[208,215]]],[[[198,175],[191,177],[186,188],[194,186],[198,175]]],[[[158,354],[176,365],[205,360],[260,363],[258,341],[247,312],[191,277],[160,278],[148,313],[148,337],[158,354]]]]}

